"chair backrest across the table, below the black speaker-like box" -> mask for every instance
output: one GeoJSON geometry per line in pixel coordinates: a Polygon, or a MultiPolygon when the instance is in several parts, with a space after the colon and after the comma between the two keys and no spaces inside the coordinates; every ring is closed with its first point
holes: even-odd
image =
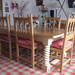
{"type": "Polygon", "coordinates": [[[44,22],[44,28],[50,27],[50,28],[58,28],[60,29],[61,25],[61,16],[60,17],[46,17],[45,16],[45,22],[44,22]]]}

